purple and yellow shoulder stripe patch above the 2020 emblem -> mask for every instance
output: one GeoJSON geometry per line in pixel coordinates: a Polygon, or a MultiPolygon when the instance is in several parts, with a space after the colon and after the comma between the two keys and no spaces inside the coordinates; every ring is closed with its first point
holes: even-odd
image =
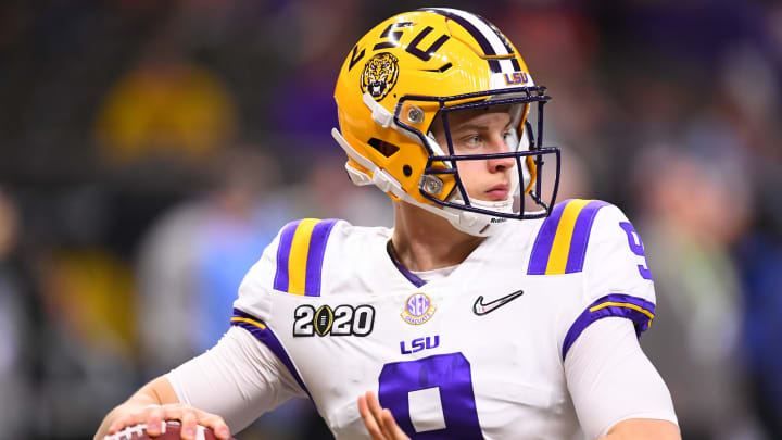
{"type": "Polygon", "coordinates": [[[275,290],[320,296],[324,254],[338,219],[305,218],[286,225],[279,235],[275,290]]]}

